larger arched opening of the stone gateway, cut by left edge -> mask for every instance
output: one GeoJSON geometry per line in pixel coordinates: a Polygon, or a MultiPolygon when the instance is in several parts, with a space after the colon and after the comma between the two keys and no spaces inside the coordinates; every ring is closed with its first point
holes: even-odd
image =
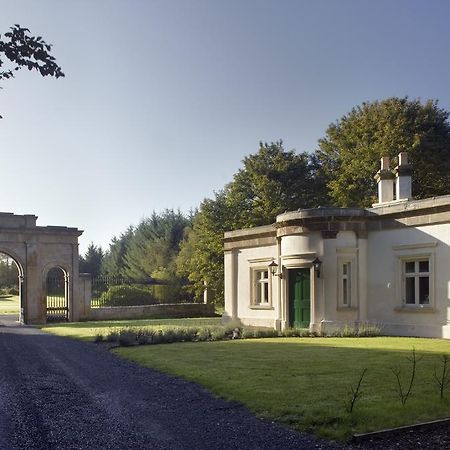
{"type": "Polygon", "coordinates": [[[22,301],[23,270],[8,253],[0,251],[0,315],[24,322],[22,301]]]}

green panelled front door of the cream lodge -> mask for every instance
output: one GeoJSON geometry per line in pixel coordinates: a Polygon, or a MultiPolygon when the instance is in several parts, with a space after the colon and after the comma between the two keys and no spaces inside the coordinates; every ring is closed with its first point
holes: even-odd
{"type": "Polygon", "coordinates": [[[289,325],[308,328],[311,318],[310,270],[289,270],[289,325]]]}

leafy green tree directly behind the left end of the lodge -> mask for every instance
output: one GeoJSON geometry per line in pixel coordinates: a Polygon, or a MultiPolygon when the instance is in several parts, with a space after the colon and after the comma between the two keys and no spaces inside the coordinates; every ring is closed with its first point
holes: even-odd
{"type": "Polygon", "coordinates": [[[233,181],[202,202],[177,258],[178,272],[188,277],[197,298],[206,284],[215,301],[223,303],[225,231],[270,224],[285,210],[328,201],[324,179],[315,168],[313,157],[285,151],[281,141],[260,143],[233,181]]]}

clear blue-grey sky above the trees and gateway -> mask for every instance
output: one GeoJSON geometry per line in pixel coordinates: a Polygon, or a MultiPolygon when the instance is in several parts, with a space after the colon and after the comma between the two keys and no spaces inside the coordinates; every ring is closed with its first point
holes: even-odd
{"type": "Polygon", "coordinates": [[[153,211],[188,212],[260,141],[312,152],[364,101],[450,110],[446,0],[0,0],[65,78],[0,85],[0,211],[104,249],[153,211]]]}

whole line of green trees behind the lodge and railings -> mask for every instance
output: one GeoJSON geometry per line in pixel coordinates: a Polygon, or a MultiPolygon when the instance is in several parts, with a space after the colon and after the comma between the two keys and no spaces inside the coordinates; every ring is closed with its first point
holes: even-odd
{"type": "Polygon", "coordinates": [[[448,118],[437,101],[394,97],[353,108],[327,128],[314,152],[261,142],[197,210],[154,212],[114,237],[105,254],[91,244],[81,267],[97,258],[92,273],[173,280],[196,299],[207,286],[221,304],[225,231],[273,223],[286,210],[368,207],[376,202],[380,158],[395,161],[401,151],[413,165],[415,198],[450,193],[448,118]]]}

